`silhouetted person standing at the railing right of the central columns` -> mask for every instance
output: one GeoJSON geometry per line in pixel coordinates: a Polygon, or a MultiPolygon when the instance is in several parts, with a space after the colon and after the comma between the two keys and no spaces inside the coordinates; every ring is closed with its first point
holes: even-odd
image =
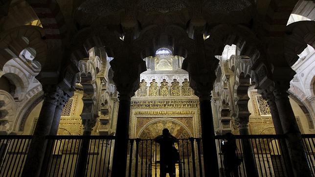
{"type": "Polygon", "coordinates": [[[221,142],[221,151],[223,153],[223,165],[225,169],[225,177],[238,177],[238,166],[240,159],[236,155],[236,142],[232,133],[225,134],[225,141],[221,142]]]}

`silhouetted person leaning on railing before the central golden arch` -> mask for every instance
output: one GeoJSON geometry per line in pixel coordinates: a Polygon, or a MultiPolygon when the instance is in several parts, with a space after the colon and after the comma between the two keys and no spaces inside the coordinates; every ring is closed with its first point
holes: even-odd
{"type": "Polygon", "coordinates": [[[155,141],[160,145],[160,177],[175,177],[175,163],[179,159],[178,150],[174,143],[178,139],[172,136],[168,129],[163,129],[162,134],[157,136],[155,141]]]}

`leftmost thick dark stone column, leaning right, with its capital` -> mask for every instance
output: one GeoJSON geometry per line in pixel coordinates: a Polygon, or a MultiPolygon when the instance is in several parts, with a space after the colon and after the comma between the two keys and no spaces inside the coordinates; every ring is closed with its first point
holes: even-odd
{"type": "Polygon", "coordinates": [[[50,133],[57,101],[63,91],[58,86],[43,86],[44,102],[38,117],[33,138],[23,167],[23,177],[39,177],[43,164],[47,140],[50,133]]]}

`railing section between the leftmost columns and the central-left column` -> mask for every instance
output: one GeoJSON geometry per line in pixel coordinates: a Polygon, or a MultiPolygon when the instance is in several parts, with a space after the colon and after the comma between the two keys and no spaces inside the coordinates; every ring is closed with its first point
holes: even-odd
{"type": "Polygon", "coordinates": [[[47,136],[49,161],[47,177],[109,177],[114,136],[47,136]]]}

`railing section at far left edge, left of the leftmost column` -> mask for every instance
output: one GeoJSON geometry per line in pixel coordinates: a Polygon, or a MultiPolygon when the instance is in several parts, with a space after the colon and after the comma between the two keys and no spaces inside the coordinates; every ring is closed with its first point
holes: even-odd
{"type": "Polygon", "coordinates": [[[0,135],[0,177],[21,176],[31,135],[0,135]]]}

